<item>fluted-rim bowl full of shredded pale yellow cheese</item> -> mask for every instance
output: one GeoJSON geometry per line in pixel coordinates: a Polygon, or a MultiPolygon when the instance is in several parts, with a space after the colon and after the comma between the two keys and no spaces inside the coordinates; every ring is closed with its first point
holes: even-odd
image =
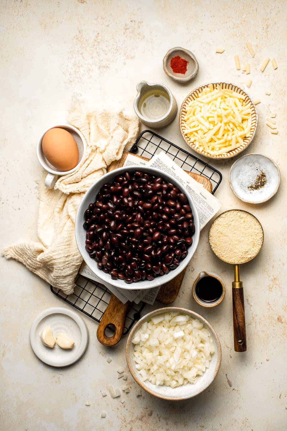
{"type": "Polygon", "coordinates": [[[245,150],[253,140],[257,121],[249,95],[228,82],[195,88],[179,112],[179,128],[186,144],[210,159],[229,159],[245,150]]]}

